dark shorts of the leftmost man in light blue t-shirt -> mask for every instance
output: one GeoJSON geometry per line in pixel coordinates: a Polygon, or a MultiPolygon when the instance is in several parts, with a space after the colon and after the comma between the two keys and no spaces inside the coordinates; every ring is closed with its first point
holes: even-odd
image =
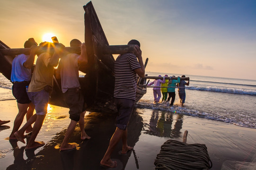
{"type": "Polygon", "coordinates": [[[29,85],[28,81],[14,82],[12,85],[12,94],[20,104],[31,103],[26,93],[26,85],[29,85]]]}

